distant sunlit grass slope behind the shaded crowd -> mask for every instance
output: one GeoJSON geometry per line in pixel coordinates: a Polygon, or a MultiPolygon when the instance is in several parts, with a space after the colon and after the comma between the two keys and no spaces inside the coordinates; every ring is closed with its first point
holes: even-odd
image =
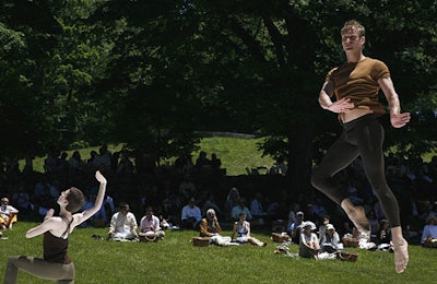
{"type": "MultiPolygon", "coordinates": [[[[228,176],[246,175],[246,167],[255,168],[258,166],[268,166],[269,168],[273,165],[273,159],[269,156],[261,157],[261,152],[257,149],[257,143],[261,142],[262,139],[238,139],[238,138],[204,138],[201,140],[199,151],[204,151],[208,157],[211,158],[211,154],[217,154],[217,157],[222,161],[222,167],[226,168],[228,176]]],[[[122,144],[108,145],[108,150],[114,153],[120,151],[122,144]]],[[[82,156],[82,159],[86,161],[90,158],[90,152],[94,150],[98,153],[98,147],[87,147],[78,150],[82,156]]],[[[193,163],[199,156],[199,151],[192,153],[193,163]]],[[[71,157],[73,151],[66,151],[68,158],[71,157]]],[[[44,159],[46,157],[36,157],[34,159],[34,169],[39,173],[44,173],[44,159]]],[[[170,159],[172,162],[173,159],[170,159]]],[[[21,169],[24,166],[24,161],[20,161],[21,169]]]]}

